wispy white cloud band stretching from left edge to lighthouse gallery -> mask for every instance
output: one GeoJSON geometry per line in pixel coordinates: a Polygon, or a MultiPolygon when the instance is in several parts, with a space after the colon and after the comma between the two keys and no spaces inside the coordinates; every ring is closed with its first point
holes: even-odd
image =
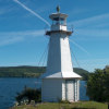
{"type": "Polygon", "coordinates": [[[5,32],[0,33],[0,46],[15,44],[25,40],[27,37],[37,37],[44,35],[45,31],[25,31],[25,32],[5,32]]]}

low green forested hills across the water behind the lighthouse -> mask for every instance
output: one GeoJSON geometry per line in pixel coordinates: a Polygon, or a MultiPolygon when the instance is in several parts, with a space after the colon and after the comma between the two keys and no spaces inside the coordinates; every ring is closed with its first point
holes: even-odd
{"type": "MultiPolygon", "coordinates": [[[[46,71],[46,66],[1,66],[0,77],[38,77],[46,71]]],[[[88,71],[74,68],[74,72],[87,80],[88,71]]]]}

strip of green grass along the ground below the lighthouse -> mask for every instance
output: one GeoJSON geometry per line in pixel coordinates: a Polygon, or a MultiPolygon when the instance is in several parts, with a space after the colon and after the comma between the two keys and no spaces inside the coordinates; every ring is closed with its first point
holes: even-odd
{"type": "Polygon", "coordinates": [[[108,109],[108,105],[96,101],[80,101],[72,104],[44,102],[36,106],[17,106],[11,109],[108,109]]]}

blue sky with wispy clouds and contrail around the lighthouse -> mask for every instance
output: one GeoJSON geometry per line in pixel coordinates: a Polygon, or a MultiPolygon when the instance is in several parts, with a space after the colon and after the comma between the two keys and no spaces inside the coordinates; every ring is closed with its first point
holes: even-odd
{"type": "Polygon", "coordinates": [[[109,0],[0,0],[0,66],[46,65],[45,32],[57,5],[74,32],[73,66],[93,72],[109,64],[109,0]]]}

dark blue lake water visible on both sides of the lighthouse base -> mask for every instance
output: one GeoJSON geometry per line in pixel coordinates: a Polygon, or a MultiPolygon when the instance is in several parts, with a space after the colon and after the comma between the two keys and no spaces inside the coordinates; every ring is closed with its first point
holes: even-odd
{"type": "MultiPolygon", "coordinates": [[[[85,84],[85,81],[81,81],[81,100],[88,100],[85,84]]],[[[40,82],[37,78],[0,78],[0,109],[9,109],[9,107],[12,107],[15,101],[16,93],[20,93],[25,85],[39,88],[40,82]]]]}

